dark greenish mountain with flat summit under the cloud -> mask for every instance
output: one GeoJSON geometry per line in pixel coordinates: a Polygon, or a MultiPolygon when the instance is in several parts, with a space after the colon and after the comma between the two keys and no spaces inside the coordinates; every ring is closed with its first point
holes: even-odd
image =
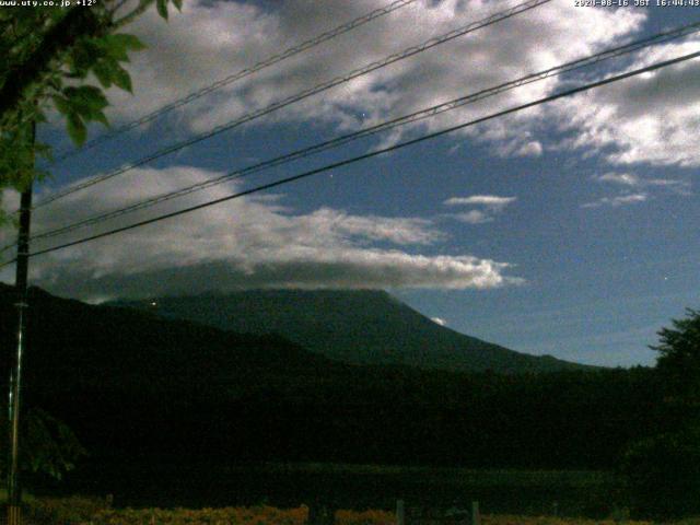
{"type": "Polygon", "coordinates": [[[383,291],[255,290],[119,304],[237,332],[278,334],[311,351],[357,364],[505,373],[583,368],[439,326],[383,291]]]}

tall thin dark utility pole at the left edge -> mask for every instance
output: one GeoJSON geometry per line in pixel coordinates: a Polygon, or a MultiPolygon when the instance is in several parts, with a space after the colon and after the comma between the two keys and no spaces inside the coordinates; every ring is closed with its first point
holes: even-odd
{"type": "MultiPolygon", "coordinates": [[[[32,124],[31,147],[34,148],[36,124],[32,124]]],[[[26,319],[28,308],[27,273],[30,266],[30,225],[32,221],[32,182],[22,191],[20,201],[20,230],[18,233],[16,272],[14,281],[15,306],[18,308],[18,338],[14,361],[10,368],[10,457],[8,468],[8,525],[20,525],[22,521],[22,491],[20,487],[20,394],[22,392],[22,353],[26,343],[26,319]]]]}

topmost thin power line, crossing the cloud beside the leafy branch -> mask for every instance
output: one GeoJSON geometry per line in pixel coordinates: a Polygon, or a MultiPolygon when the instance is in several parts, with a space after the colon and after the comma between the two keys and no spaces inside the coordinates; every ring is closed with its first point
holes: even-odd
{"type": "Polygon", "coordinates": [[[119,126],[113,131],[106,132],[100,137],[96,137],[95,139],[88,141],[85,144],[83,144],[81,149],[70,150],[70,151],[60,153],[59,155],[56,156],[55,162],[58,163],[58,162],[65,161],[66,159],[78,155],[84,152],[85,150],[94,148],[95,145],[107,142],[119,135],[122,135],[127,131],[130,131],[131,129],[138,128],[144,124],[155,120],[156,118],[172,112],[173,109],[177,109],[178,107],[189,104],[190,102],[196,101],[197,98],[201,98],[202,96],[208,95],[209,93],[213,93],[214,91],[218,91],[225,85],[237,82],[238,80],[249,77],[250,74],[256,73],[265,68],[269,68],[270,66],[279,63],[282,60],[285,60],[295,55],[299,55],[300,52],[306,51],[313,47],[316,47],[337,36],[348,33],[357,27],[360,27],[361,25],[364,25],[368,22],[378,19],[380,16],[384,16],[385,14],[389,14],[394,11],[397,11],[416,1],[417,0],[395,0],[394,2],[389,3],[388,5],[385,5],[384,8],[375,9],[374,11],[366,13],[362,16],[359,16],[348,23],[334,27],[332,30],[322,33],[320,35],[310,38],[308,40],[305,40],[296,46],[290,47],[278,55],[272,55],[271,57],[268,57],[265,60],[261,60],[256,65],[250,66],[249,68],[242,69],[233,74],[230,74],[229,77],[220,79],[217,82],[213,82],[197,91],[194,91],[182,98],[173,101],[170,104],[166,104],[165,106],[160,107],[159,109],[155,109],[140,118],[137,118],[136,120],[131,120],[130,122],[119,126]]]}

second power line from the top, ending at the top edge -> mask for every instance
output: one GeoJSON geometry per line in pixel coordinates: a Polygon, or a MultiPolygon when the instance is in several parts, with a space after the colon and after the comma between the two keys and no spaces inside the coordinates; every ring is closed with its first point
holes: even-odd
{"type": "Polygon", "coordinates": [[[489,25],[493,25],[497,24],[503,20],[510,19],[512,16],[515,16],[516,14],[529,11],[532,9],[535,9],[539,5],[542,5],[545,3],[549,3],[551,2],[551,0],[527,0],[525,2],[522,2],[513,8],[510,8],[508,10],[504,11],[500,11],[495,14],[492,14],[486,19],[482,19],[480,21],[477,22],[471,22],[469,24],[467,24],[466,26],[459,27],[457,30],[453,30],[444,35],[441,36],[436,36],[433,38],[430,38],[429,40],[424,42],[423,44],[420,44],[418,46],[413,46],[413,47],[409,47],[408,49],[405,49],[400,52],[397,52],[395,55],[390,55],[382,60],[372,62],[368,66],[364,66],[362,68],[355,69],[353,71],[351,71],[350,73],[347,73],[345,75],[341,77],[336,77],[335,79],[317,84],[314,88],[311,88],[308,90],[304,90],[300,93],[296,93],[295,95],[292,95],[290,97],[283,98],[282,101],[279,102],[275,102],[264,108],[257,109],[253,113],[248,113],[246,115],[243,115],[242,117],[238,117],[235,120],[229,121],[226,124],[220,125],[214,127],[213,129],[206,131],[203,133],[200,133],[198,136],[195,136],[190,139],[184,140],[182,142],[175,143],[175,144],[171,144],[170,147],[166,147],[164,149],[161,149],[150,155],[147,155],[138,161],[128,163],[126,165],[122,165],[121,167],[112,171],[109,173],[106,173],[104,175],[91,178],[90,180],[86,180],[84,183],[80,183],[77,184],[74,186],[70,186],[68,188],[66,188],[63,191],[59,191],[56,195],[52,195],[51,197],[48,197],[39,202],[37,202],[36,205],[34,205],[34,209],[36,208],[40,208],[43,206],[46,206],[50,202],[54,202],[58,199],[61,199],[68,195],[71,195],[75,191],[80,191],[82,189],[85,189],[88,187],[94,186],[96,184],[100,184],[104,180],[107,180],[109,178],[116,177],[117,175],[121,175],[126,172],[129,172],[136,167],[142,166],[144,164],[148,164],[156,159],[160,159],[162,156],[168,155],[171,153],[174,153],[176,151],[179,151],[184,148],[187,148],[189,145],[196,144],[198,142],[201,142],[202,140],[209,139],[215,135],[222,133],[223,131],[228,131],[230,129],[233,129],[235,127],[238,127],[243,124],[249,122],[250,120],[254,120],[256,118],[260,118],[265,115],[268,115],[272,112],[276,112],[278,109],[281,109],[283,107],[287,107],[291,104],[294,104],[296,102],[303,101],[305,98],[308,98],[310,96],[316,95],[318,93],[322,93],[324,91],[327,91],[331,88],[335,88],[337,85],[340,85],[342,83],[349,82],[350,80],[357,79],[359,77],[362,77],[364,74],[368,74],[372,71],[375,71],[377,69],[384,68],[386,66],[389,66],[392,63],[398,62],[399,60],[404,60],[406,58],[409,58],[413,55],[418,55],[419,52],[423,52],[428,49],[431,49],[438,45],[447,43],[450,40],[453,40],[459,36],[466,35],[468,33],[472,33],[477,30],[480,30],[482,27],[487,27],[489,25]]]}

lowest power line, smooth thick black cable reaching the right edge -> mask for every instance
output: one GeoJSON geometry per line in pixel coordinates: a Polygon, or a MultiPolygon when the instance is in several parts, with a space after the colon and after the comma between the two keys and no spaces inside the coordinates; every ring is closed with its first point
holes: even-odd
{"type": "MultiPolygon", "coordinates": [[[[631,77],[637,77],[639,74],[643,74],[643,73],[646,73],[646,72],[650,72],[650,71],[662,69],[662,68],[665,68],[665,67],[668,67],[668,66],[672,66],[672,65],[675,65],[675,63],[684,62],[686,60],[690,60],[690,59],[698,58],[698,57],[700,57],[700,51],[691,52],[691,54],[684,55],[681,57],[676,57],[676,58],[673,58],[673,59],[669,59],[669,60],[664,60],[662,62],[656,62],[656,63],[653,63],[651,66],[646,66],[646,67],[641,68],[641,69],[635,69],[635,70],[629,71],[627,73],[621,73],[621,74],[618,74],[618,75],[615,75],[615,77],[609,77],[607,79],[599,80],[597,82],[591,82],[591,83],[587,83],[587,84],[584,84],[584,85],[581,85],[581,86],[578,86],[578,88],[573,88],[573,89],[570,89],[570,90],[567,90],[567,91],[562,91],[560,93],[556,93],[553,95],[549,95],[549,96],[546,96],[546,97],[542,97],[542,98],[538,98],[536,101],[533,101],[533,102],[529,102],[529,103],[526,103],[526,104],[514,106],[514,107],[511,107],[509,109],[504,109],[504,110],[488,115],[486,117],[481,117],[481,118],[477,118],[477,119],[474,119],[474,120],[469,120],[467,122],[459,124],[457,126],[452,126],[450,128],[445,128],[445,129],[442,129],[440,131],[435,131],[433,133],[424,135],[424,136],[416,138],[416,139],[407,140],[405,142],[400,142],[398,144],[394,144],[394,145],[388,147],[388,148],[384,148],[384,149],[381,149],[381,150],[375,150],[375,151],[365,153],[363,155],[353,156],[351,159],[347,159],[345,161],[335,162],[332,164],[327,164],[325,166],[322,166],[322,167],[318,167],[318,168],[315,168],[315,170],[311,170],[311,171],[307,171],[307,172],[304,172],[304,173],[301,173],[301,174],[298,174],[298,175],[293,175],[293,176],[290,176],[290,177],[281,178],[281,179],[275,180],[272,183],[268,183],[268,184],[264,184],[264,185],[260,185],[260,186],[256,186],[255,188],[246,189],[244,191],[238,191],[236,194],[232,194],[232,195],[229,195],[226,197],[221,197],[219,199],[210,200],[210,201],[207,201],[207,202],[203,202],[203,203],[200,203],[200,205],[191,206],[191,207],[184,208],[184,209],[180,209],[180,210],[177,210],[177,211],[173,211],[173,212],[170,212],[170,213],[164,213],[162,215],[159,215],[159,217],[155,217],[155,218],[152,218],[152,219],[139,221],[139,222],[136,222],[136,223],[132,223],[132,224],[128,224],[126,226],[116,228],[116,229],[109,230],[107,232],[98,233],[98,234],[91,235],[91,236],[88,236],[88,237],[79,238],[77,241],[71,241],[71,242],[63,243],[63,244],[60,244],[60,245],[57,245],[57,246],[52,246],[50,248],[46,248],[46,249],[42,249],[42,250],[38,250],[38,252],[34,252],[34,253],[30,254],[30,257],[35,257],[37,255],[48,254],[48,253],[51,253],[51,252],[56,252],[58,249],[63,249],[63,248],[67,248],[67,247],[70,247],[70,246],[75,246],[75,245],[79,245],[79,244],[83,244],[83,243],[86,243],[86,242],[90,242],[90,241],[95,241],[97,238],[107,237],[107,236],[110,236],[110,235],[115,235],[117,233],[121,233],[121,232],[126,232],[126,231],[129,231],[129,230],[133,230],[136,228],[141,228],[141,226],[144,226],[147,224],[152,224],[154,222],[160,222],[160,221],[163,221],[165,219],[171,219],[173,217],[178,217],[178,215],[183,215],[185,213],[189,213],[189,212],[192,212],[192,211],[196,211],[196,210],[208,208],[210,206],[214,206],[214,205],[218,205],[218,203],[221,203],[221,202],[225,202],[225,201],[233,200],[233,199],[236,199],[236,198],[245,197],[245,196],[248,196],[248,195],[252,195],[252,194],[256,194],[256,192],[259,192],[259,191],[262,191],[262,190],[266,190],[266,189],[271,189],[271,188],[275,188],[275,187],[278,187],[278,186],[282,186],[284,184],[289,184],[289,183],[293,183],[293,182],[300,180],[302,178],[307,178],[307,177],[311,177],[313,175],[317,175],[319,173],[324,173],[324,172],[327,172],[327,171],[330,171],[330,170],[335,170],[335,168],[338,168],[338,167],[341,167],[341,166],[346,166],[346,165],[349,165],[349,164],[354,164],[355,162],[364,161],[366,159],[371,159],[371,158],[374,158],[374,156],[377,156],[377,155],[381,155],[381,154],[384,154],[384,153],[396,151],[396,150],[399,150],[401,148],[406,148],[408,145],[413,145],[413,144],[417,144],[419,142],[423,142],[423,141],[429,140],[429,139],[434,139],[436,137],[441,137],[443,135],[447,135],[447,133],[451,133],[453,131],[457,131],[459,129],[464,129],[464,128],[467,128],[467,127],[470,127],[470,126],[476,126],[478,124],[482,124],[482,122],[486,122],[488,120],[492,120],[494,118],[500,118],[500,117],[503,117],[503,116],[506,116],[506,115],[510,115],[510,114],[513,114],[513,113],[516,113],[516,112],[521,112],[523,109],[527,109],[527,108],[530,108],[530,107],[534,107],[534,106],[538,106],[540,104],[545,104],[545,103],[548,103],[548,102],[551,102],[551,101],[556,101],[558,98],[563,98],[565,96],[571,96],[571,95],[574,95],[576,93],[582,93],[584,91],[588,91],[588,90],[592,90],[592,89],[595,89],[595,88],[599,88],[599,86],[603,86],[603,85],[606,85],[606,84],[610,84],[612,82],[618,82],[620,80],[629,79],[631,77]]],[[[7,262],[5,265],[11,264],[11,262],[13,262],[13,261],[7,262]]],[[[3,266],[5,266],[5,265],[3,265],[3,266]]]]}

